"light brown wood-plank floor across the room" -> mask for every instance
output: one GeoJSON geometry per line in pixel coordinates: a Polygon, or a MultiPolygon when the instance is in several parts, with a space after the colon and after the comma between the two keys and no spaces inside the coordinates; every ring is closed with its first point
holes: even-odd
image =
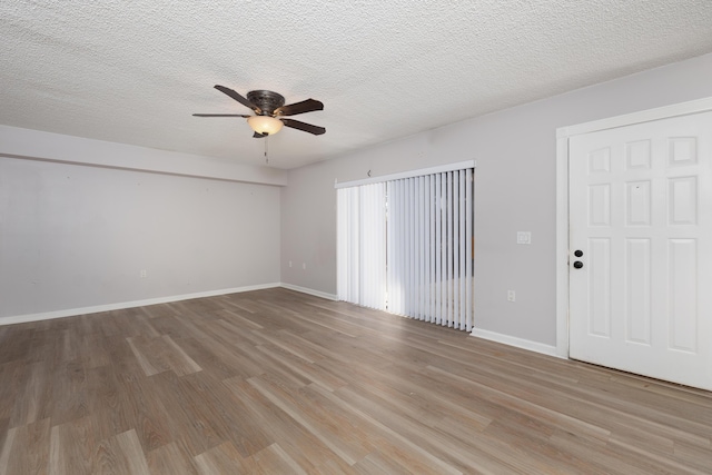
{"type": "Polygon", "coordinates": [[[0,474],[712,473],[712,394],[286,289],[0,327],[0,474]]]}

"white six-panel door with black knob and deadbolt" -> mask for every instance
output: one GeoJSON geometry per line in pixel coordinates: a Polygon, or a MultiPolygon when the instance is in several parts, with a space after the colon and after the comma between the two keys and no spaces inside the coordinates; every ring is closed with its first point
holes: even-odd
{"type": "Polygon", "coordinates": [[[568,147],[570,356],[712,390],[712,112],[568,147]]]}

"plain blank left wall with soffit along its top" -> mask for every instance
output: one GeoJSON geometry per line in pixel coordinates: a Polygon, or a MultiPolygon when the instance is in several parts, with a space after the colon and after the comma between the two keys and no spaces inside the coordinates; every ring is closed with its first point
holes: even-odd
{"type": "MultiPolygon", "coordinates": [[[[46,157],[3,156],[0,142],[0,324],[279,284],[278,186],[166,175],[154,170],[186,157],[17,132],[13,151],[37,152],[33,139],[46,157]]],[[[182,172],[286,181],[210,160],[188,157],[182,172]]]]}

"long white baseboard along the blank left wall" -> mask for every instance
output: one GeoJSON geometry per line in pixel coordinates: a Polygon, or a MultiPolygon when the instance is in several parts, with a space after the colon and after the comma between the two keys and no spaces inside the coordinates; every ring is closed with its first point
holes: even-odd
{"type": "Polygon", "coordinates": [[[148,298],[146,300],[120,301],[118,304],[98,305],[95,307],[69,308],[66,310],[44,311],[41,314],[17,315],[0,318],[0,326],[24,324],[28,321],[51,320],[53,318],[73,317],[77,315],[97,314],[99,311],[121,310],[123,308],[142,307],[145,305],[169,304],[171,301],[189,300],[191,298],[215,297],[218,295],[237,294],[241,291],[261,290],[279,287],[279,284],[260,284],[255,286],[225,288],[220,290],[198,291],[195,294],[172,295],[170,297],[148,298]]]}

